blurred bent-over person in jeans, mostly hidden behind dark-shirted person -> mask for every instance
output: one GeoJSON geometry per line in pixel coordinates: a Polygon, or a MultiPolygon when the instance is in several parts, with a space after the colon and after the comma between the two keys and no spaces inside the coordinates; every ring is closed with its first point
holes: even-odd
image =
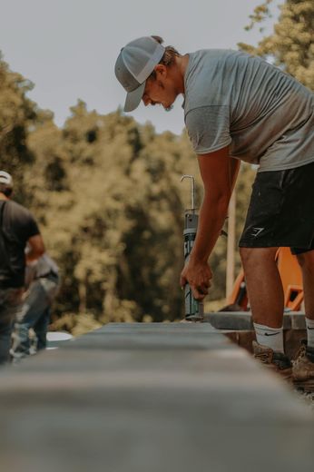
{"type": "Polygon", "coordinates": [[[11,355],[22,359],[46,348],[46,336],[51,307],[58,292],[60,280],[56,263],[44,253],[26,268],[23,304],[16,315],[11,355]],[[30,333],[34,331],[33,341],[30,333]]]}

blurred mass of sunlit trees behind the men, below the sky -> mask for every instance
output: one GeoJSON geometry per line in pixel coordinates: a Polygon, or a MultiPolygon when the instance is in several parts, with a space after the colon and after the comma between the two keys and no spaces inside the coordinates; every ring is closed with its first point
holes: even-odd
{"type": "MultiPolygon", "coordinates": [[[[183,216],[190,206],[183,173],[195,176],[199,205],[202,198],[187,134],[158,134],[121,110],[89,112],[82,101],[58,128],[52,113],[27,98],[32,84],[4,61],[0,80],[1,168],[13,174],[15,199],[33,211],[61,269],[55,327],[81,333],[113,320],[182,318],[183,216]]],[[[248,187],[243,181],[240,221],[248,187]]],[[[225,260],[221,238],[210,300],[224,297],[225,260]]]]}

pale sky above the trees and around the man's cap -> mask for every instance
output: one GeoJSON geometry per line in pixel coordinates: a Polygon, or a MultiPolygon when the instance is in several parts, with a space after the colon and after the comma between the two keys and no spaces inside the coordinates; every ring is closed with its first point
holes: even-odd
{"type": "MultiPolygon", "coordinates": [[[[158,34],[180,53],[203,48],[236,49],[257,44],[259,28],[246,32],[249,15],[262,0],[0,0],[0,50],[11,70],[34,83],[29,93],[41,108],[54,112],[62,126],[77,99],[88,110],[111,113],[125,93],[114,76],[120,49],[136,37],[158,34]]],[[[274,18],[279,14],[274,0],[274,18]]],[[[158,133],[181,133],[181,97],[171,113],[160,107],[132,112],[158,133]]]]}

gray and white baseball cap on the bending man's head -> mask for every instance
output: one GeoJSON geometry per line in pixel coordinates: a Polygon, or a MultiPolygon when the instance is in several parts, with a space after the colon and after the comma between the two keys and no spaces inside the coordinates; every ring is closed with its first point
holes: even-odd
{"type": "Polygon", "coordinates": [[[146,79],[159,64],[165,48],[152,36],[143,36],[126,44],[115,63],[115,76],[126,90],[124,112],[132,112],[139,106],[146,79]]]}

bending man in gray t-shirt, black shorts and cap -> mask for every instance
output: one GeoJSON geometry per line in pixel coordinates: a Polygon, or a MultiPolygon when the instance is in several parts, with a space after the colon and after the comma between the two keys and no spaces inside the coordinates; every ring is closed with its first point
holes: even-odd
{"type": "Polygon", "coordinates": [[[291,364],[282,338],[283,292],[275,255],[287,246],[303,273],[308,343],[293,366],[314,388],[314,98],[294,78],[230,50],[181,55],[146,36],[122,49],[115,74],[127,92],[124,111],[141,101],[170,109],[184,96],[184,119],[198,156],[204,200],[196,240],[182,270],[202,300],[211,286],[208,259],[226,218],[240,161],[259,165],[240,239],[257,341],[255,357],[284,377],[291,364]]]}

